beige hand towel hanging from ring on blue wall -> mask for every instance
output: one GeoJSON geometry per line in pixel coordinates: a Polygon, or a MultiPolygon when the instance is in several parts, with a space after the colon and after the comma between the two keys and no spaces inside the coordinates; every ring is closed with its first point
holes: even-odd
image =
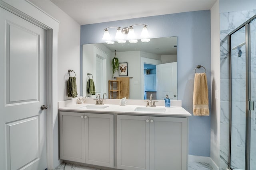
{"type": "Polygon", "coordinates": [[[208,116],[208,86],[205,73],[196,73],[193,93],[193,114],[195,116],[208,116]]]}

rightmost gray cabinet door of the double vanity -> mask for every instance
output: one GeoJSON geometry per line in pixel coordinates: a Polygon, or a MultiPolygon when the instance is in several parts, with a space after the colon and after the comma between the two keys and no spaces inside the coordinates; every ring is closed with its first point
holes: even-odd
{"type": "Polygon", "coordinates": [[[150,170],[187,170],[187,118],[150,117],[150,170]]]}

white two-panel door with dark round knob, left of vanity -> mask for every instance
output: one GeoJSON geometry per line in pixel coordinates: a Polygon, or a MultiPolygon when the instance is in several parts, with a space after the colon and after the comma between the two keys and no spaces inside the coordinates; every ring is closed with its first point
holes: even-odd
{"type": "Polygon", "coordinates": [[[45,170],[46,31],[0,8],[0,169],[45,170]]]}

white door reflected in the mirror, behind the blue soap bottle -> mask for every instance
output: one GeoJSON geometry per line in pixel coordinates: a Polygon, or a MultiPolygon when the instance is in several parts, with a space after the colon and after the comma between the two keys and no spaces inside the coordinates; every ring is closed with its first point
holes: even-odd
{"type": "Polygon", "coordinates": [[[168,94],[170,100],[177,100],[177,62],[158,64],[157,75],[157,99],[163,100],[168,94]]]}

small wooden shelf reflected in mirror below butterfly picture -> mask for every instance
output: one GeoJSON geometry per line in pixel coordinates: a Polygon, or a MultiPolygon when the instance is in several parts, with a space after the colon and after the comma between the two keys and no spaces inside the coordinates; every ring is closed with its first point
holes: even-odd
{"type": "Polygon", "coordinates": [[[108,98],[120,99],[121,96],[121,81],[108,80],[108,98]]]}

